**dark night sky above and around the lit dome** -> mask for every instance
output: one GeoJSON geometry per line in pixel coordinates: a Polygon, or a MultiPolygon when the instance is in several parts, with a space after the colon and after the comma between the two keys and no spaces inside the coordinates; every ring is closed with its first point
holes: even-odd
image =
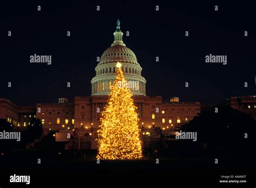
{"type": "Polygon", "coordinates": [[[208,104],[228,96],[256,95],[253,4],[70,0],[1,1],[0,98],[35,105],[57,102],[62,96],[72,101],[75,96],[91,95],[96,57],[112,44],[118,18],[121,30],[130,32],[123,40],[143,68],[147,95],[208,104]],[[219,11],[214,11],[214,5],[219,11]],[[71,31],[71,37],[66,31],[71,31]],[[52,65],[31,63],[29,57],[35,53],[52,55],[52,65]],[[205,55],[210,53],[227,55],[227,65],[207,64],[205,55]],[[71,82],[71,88],[66,82],[71,82]]]}

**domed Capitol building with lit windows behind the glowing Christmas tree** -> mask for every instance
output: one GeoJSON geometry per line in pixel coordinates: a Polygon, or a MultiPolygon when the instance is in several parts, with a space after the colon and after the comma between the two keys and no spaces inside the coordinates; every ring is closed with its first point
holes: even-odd
{"type": "MultiPolygon", "coordinates": [[[[122,64],[125,79],[138,83],[138,87],[131,88],[131,92],[143,135],[153,137],[174,132],[179,124],[189,122],[200,114],[200,102],[180,102],[178,97],[164,101],[161,96],[146,95],[146,80],[139,64],[143,60],[138,60],[136,54],[125,45],[119,20],[113,35],[113,43],[103,52],[95,68],[96,75],[91,80],[91,96],[75,96],[72,103],[66,98],[60,98],[57,103],[37,103],[33,107],[19,107],[7,99],[0,99],[0,118],[22,129],[29,126],[30,120],[36,117],[41,120],[44,129],[59,133],[70,132],[73,135],[71,148],[96,148],[100,113],[104,110],[116,78],[118,61],[122,64]],[[88,139],[90,144],[83,144],[88,139]]],[[[153,83],[148,84],[154,87],[153,83]]]]}

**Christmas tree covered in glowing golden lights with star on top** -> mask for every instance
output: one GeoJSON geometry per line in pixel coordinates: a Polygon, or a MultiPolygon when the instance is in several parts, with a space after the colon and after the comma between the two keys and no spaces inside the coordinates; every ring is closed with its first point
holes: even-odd
{"type": "Polygon", "coordinates": [[[142,158],[137,107],[134,106],[121,66],[118,62],[117,77],[100,119],[102,124],[98,130],[98,159],[142,158]]]}

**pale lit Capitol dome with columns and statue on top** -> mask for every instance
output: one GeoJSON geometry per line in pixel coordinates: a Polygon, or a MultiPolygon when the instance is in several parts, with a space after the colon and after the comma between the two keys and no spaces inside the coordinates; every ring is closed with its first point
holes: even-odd
{"type": "Polygon", "coordinates": [[[123,42],[123,32],[120,30],[120,21],[117,21],[117,30],[114,34],[114,42],[107,48],[100,57],[100,62],[95,68],[96,76],[92,78],[92,95],[108,95],[110,87],[116,79],[117,67],[119,61],[122,64],[122,70],[125,79],[132,83],[130,90],[133,95],[146,95],[146,80],[142,76],[142,67],[140,67],[136,55],[126,47],[123,42]]]}

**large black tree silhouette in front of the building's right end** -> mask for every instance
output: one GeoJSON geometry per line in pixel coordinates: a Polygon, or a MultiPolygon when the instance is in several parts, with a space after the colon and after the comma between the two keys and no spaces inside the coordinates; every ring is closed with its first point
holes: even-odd
{"type": "Polygon", "coordinates": [[[213,148],[247,148],[256,141],[256,121],[231,107],[218,107],[218,113],[214,108],[203,111],[182,129],[197,131],[198,143],[213,148]]]}

